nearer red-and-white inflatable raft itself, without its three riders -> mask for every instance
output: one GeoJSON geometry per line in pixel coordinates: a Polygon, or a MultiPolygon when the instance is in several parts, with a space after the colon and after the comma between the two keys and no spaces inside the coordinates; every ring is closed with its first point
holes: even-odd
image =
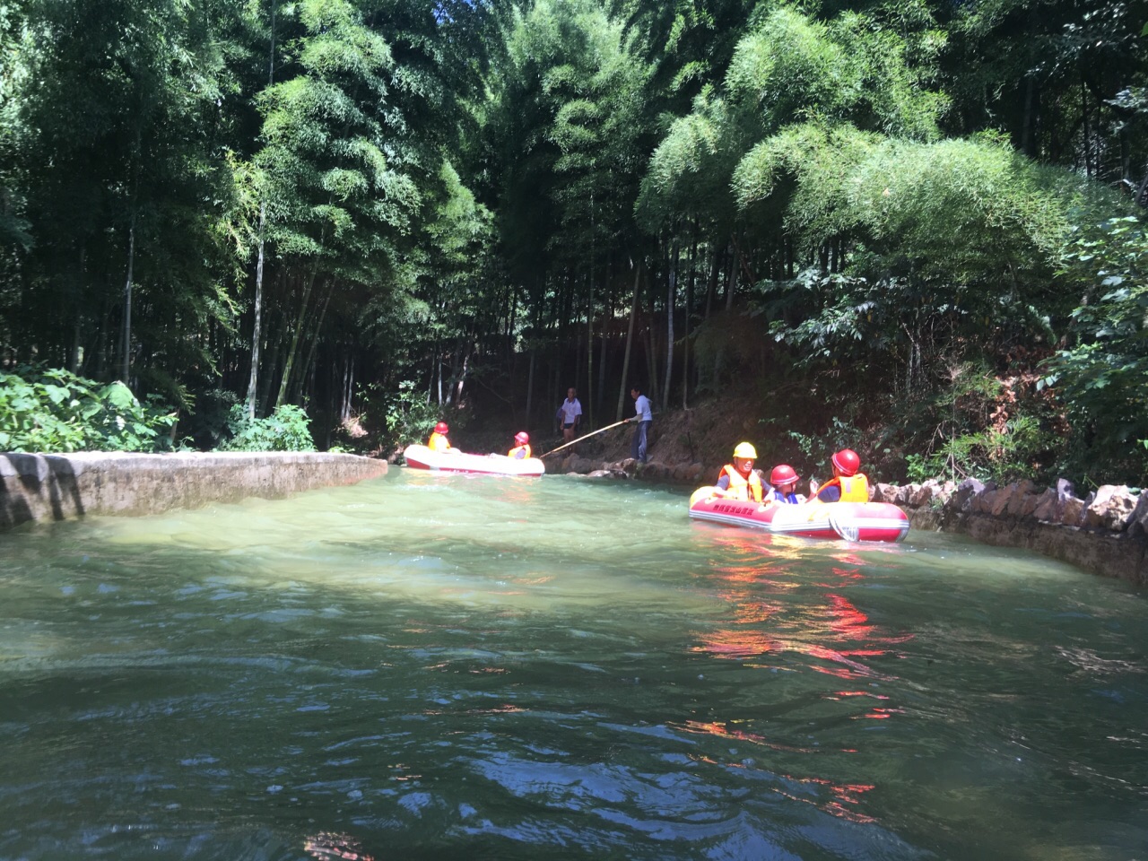
{"type": "Polygon", "coordinates": [[[713,490],[704,487],[693,491],[690,518],[805,538],[901,541],[909,532],[908,514],[890,503],[762,505],[712,496],[713,490]]]}

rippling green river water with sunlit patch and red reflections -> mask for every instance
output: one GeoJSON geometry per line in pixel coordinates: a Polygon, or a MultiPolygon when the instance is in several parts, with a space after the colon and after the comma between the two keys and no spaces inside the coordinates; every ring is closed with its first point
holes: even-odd
{"type": "Polygon", "coordinates": [[[1148,858],[1145,592],[685,506],[394,470],[0,535],[0,859],[1148,858]]]}

